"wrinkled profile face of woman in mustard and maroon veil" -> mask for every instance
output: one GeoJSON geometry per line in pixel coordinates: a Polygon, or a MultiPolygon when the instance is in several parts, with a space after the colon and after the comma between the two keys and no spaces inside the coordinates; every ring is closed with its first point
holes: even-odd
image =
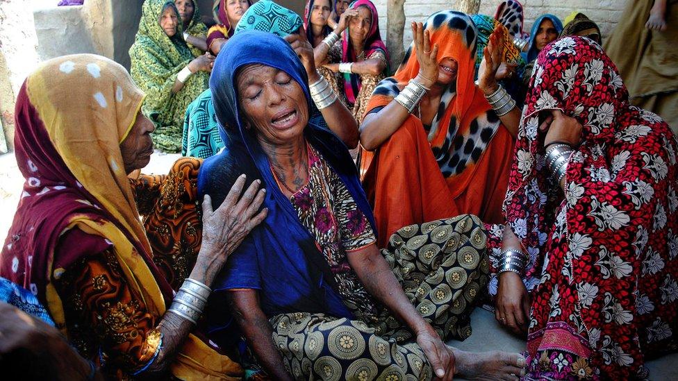
{"type": "Polygon", "coordinates": [[[142,169],[151,161],[151,153],[153,153],[151,133],[154,130],[153,122],[144,117],[141,111],[139,111],[132,129],[122,143],[120,143],[120,153],[122,153],[125,173],[129,174],[135,169],[142,169]]]}

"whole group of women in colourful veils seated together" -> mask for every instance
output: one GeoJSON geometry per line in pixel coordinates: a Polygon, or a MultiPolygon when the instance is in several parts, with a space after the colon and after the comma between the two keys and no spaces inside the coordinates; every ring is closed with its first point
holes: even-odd
{"type": "MultiPolygon", "coordinates": [[[[131,51],[174,46],[191,65],[165,10],[176,9],[144,3],[131,51]]],[[[167,175],[132,174],[163,128],[147,107],[178,106],[133,81],[170,70],[165,58],[149,55],[132,77],[100,56],[55,58],[19,92],[26,183],[0,276],[44,305],[26,309],[76,348],[78,371],[630,379],[677,348],[678,140],[629,104],[600,44],[574,35],[590,28],[529,44],[538,54],[521,108],[504,88],[522,65],[513,27],[485,19],[481,31],[436,12],[412,24],[410,49],[358,106],[358,127],[358,103],[352,112],[319,67],[331,67],[332,33],[352,28],[345,15],[362,20],[364,38],[349,29],[340,65],[384,62],[374,6],[342,9],[315,48],[293,12],[266,0],[249,10],[252,22],[199,63],[222,149],[167,175]],[[445,344],[472,335],[479,303],[527,339],[524,353],[445,344]]],[[[343,86],[360,94],[369,81],[355,74],[343,86]]]]}

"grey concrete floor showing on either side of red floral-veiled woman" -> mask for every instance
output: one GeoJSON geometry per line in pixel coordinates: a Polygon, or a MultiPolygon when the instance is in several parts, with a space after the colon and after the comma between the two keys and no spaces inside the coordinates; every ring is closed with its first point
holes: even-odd
{"type": "MultiPolygon", "coordinates": [[[[488,350],[504,350],[506,352],[522,352],[525,341],[513,336],[504,330],[495,320],[495,314],[477,308],[471,314],[473,333],[465,341],[449,341],[447,344],[471,352],[486,352],[488,350]]],[[[666,355],[659,359],[647,362],[652,381],[678,380],[678,353],[666,355]]],[[[455,378],[455,380],[463,380],[455,378]]]]}

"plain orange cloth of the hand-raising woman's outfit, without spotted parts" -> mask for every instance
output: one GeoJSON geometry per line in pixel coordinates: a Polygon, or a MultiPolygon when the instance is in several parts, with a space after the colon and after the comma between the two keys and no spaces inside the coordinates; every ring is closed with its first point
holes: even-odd
{"type": "MultiPolygon", "coordinates": [[[[485,115],[490,105],[474,84],[475,52],[465,44],[463,31],[445,24],[434,28],[432,22],[427,22],[427,30],[431,46],[439,46],[439,62],[452,58],[458,64],[456,95],[447,105],[438,129],[428,136],[422,122],[411,115],[379,147],[376,156],[364,150],[361,153],[363,187],[374,208],[380,247],[386,246],[388,237],[397,229],[413,223],[463,213],[477,214],[488,223],[503,221],[502,203],[513,153],[513,138],[506,128],[499,126],[478,160],[469,162],[461,173],[444,178],[433,156],[434,147],[446,145],[454,150],[451,144],[445,144],[454,138],[447,136],[453,117],[458,121],[456,135],[465,135],[472,121],[485,115]]],[[[419,73],[415,47],[411,46],[410,51],[408,60],[393,76],[399,89],[419,73]]],[[[392,96],[375,94],[367,110],[392,100],[392,96]]]]}

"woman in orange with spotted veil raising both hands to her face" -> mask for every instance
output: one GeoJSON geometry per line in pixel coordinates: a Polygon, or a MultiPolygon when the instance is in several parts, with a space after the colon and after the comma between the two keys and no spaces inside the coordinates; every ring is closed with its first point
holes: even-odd
{"type": "Polygon", "coordinates": [[[460,213],[502,221],[513,151],[512,133],[497,117],[511,103],[493,112],[474,85],[472,20],[440,11],[412,28],[401,67],[374,90],[361,124],[363,149],[375,151],[373,160],[363,153],[361,171],[383,234],[379,247],[403,226],[460,213]]]}

